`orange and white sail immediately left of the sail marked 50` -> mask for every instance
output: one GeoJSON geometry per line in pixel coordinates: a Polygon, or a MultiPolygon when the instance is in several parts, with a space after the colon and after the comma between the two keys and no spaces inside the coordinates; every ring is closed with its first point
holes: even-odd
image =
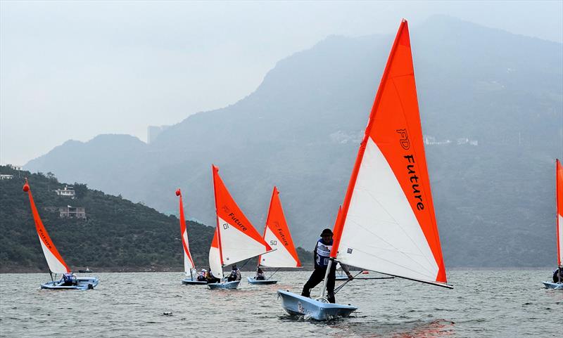
{"type": "Polygon", "coordinates": [[[219,176],[219,168],[212,168],[217,211],[217,244],[222,265],[235,264],[272,250],[234,202],[219,176]]]}

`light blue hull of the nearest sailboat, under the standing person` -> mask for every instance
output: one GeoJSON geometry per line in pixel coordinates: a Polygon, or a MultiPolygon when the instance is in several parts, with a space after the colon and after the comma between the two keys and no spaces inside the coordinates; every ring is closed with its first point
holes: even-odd
{"type": "Polygon", "coordinates": [[[305,316],[315,320],[330,320],[338,317],[348,317],[350,313],[358,310],[355,306],[324,303],[283,290],[277,290],[277,295],[281,297],[281,306],[284,310],[293,316],[305,316]]]}

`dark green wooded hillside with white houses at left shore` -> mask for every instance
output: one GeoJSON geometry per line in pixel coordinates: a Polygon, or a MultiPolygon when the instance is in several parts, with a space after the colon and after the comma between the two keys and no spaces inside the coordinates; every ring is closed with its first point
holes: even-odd
{"type": "MultiPolygon", "coordinates": [[[[74,183],[76,197],[62,197],[64,188],[52,174],[31,174],[0,166],[0,272],[47,271],[30,203],[23,193],[27,177],[37,209],[66,263],[73,271],[89,266],[94,271],[153,271],[183,268],[179,220],[141,203],[91,190],[74,183]],[[61,218],[45,207],[85,207],[87,219],[61,218]]],[[[174,191],[170,193],[174,194],[174,191]]],[[[177,207],[177,203],[173,207],[177,207]]],[[[171,207],[172,208],[172,207],[171,207]]],[[[208,266],[214,228],[187,221],[191,254],[199,267],[208,266]]],[[[308,263],[310,254],[300,250],[308,263]]],[[[249,263],[248,268],[253,264],[249,263]]]]}

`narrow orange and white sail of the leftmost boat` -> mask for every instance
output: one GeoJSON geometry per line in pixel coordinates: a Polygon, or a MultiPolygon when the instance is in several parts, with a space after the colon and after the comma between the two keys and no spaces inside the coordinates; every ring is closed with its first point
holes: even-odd
{"type": "Polygon", "coordinates": [[[61,254],[58,253],[55,244],[49,237],[47,229],[43,225],[41,218],[39,217],[39,212],[37,212],[37,207],[35,207],[35,202],[33,201],[33,195],[31,193],[30,184],[25,180],[23,186],[23,191],[27,193],[30,197],[31,213],[33,215],[33,221],[35,222],[35,230],[37,230],[37,235],[39,236],[39,242],[41,243],[41,248],[43,249],[43,254],[49,266],[49,271],[52,273],[70,273],[70,269],[66,265],[61,254]]]}

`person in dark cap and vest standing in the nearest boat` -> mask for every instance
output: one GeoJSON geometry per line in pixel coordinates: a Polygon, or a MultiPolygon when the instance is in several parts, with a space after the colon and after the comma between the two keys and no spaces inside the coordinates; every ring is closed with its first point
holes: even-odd
{"type": "MultiPolygon", "coordinates": [[[[303,292],[301,296],[311,297],[311,289],[317,286],[324,279],[324,275],[327,272],[327,266],[330,259],[330,250],[332,249],[332,231],[330,229],[324,229],[321,233],[321,239],[317,241],[315,245],[315,250],[313,251],[313,259],[315,260],[315,270],[312,272],[309,280],[303,286],[303,292]]],[[[348,276],[348,279],[353,279],[348,271],[348,266],[340,264],[342,270],[348,276]]],[[[332,264],[329,271],[327,280],[327,300],[330,303],[335,303],[334,299],[334,282],[336,280],[336,264],[332,264]]]]}

